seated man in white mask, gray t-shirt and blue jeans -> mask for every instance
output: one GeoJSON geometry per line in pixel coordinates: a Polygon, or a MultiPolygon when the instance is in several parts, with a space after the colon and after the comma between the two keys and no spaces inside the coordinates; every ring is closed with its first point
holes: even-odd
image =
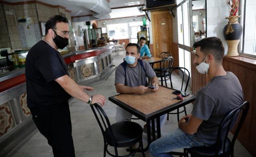
{"type": "Polygon", "coordinates": [[[243,103],[238,78],[222,66],[222,41],[217,37],[204,38],[195,42],[194,48],[197,71],[208,73],[210,81],[198,91],[192,114],[181,118],[179,128],[151,143],[149,153],[153,157],[172,157],[168,152],[178,148],[215,144],[223,117],[243,103]]]}

